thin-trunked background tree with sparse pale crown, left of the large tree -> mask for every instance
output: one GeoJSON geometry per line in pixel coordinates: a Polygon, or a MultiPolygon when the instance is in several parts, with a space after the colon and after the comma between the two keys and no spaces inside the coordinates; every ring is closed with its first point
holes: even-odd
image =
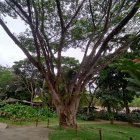
{"type": "Polygon", "coordinates": [[[28,59],[15,62],[13,69],[19,79],[19,88],[16,91],[29,92],[31,95],[30,101],[32,103],[35,95],[35,89],[37,87],[43,87],[44,78],[38,69],[28,61],[28,59]]]}

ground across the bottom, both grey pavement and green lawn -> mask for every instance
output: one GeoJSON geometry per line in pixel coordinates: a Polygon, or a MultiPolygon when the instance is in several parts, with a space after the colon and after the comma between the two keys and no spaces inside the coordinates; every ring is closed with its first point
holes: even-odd
{"type": "MultiPolygon", "coordinates": [[[[35,124],[32,125],[10,125],[8,128],[5,123],[0,123],[0,140],[48,140],[48,133],[53,132],[51,135],[49,135],[50,139],[52,140],[69,140],[67,138],[71,139],[79,139],[83,140],[83,138],[89,138],[93,139],[93,134],[96,134],[94,139],[98,139],[98,128],[102,128],[104,139],[108,140],[109,136],[112,137],[122,136],[122,139],[127,136],[127,139],[129,137],[133,136],[136,140],[139,138],[139,128],[135,126],[129,125],[127,122],[119,122],[115,121],[115,125],[109,125],[109,121],[104,120],[96,120],[96,121],[78,121],[78,133],[75,133],[74,131],[64,131],[63,129],[58,129],[58,122],[56,119],[50,120],[49,129],[47,128],[46,123],[40,122],[38,124],[38,127],[35,127],[35,124]],[[93,125],[89,125],[93,124],[93,125]],[[95,124],[95,125],[94,125],[95,124]],[[130,129],[130,130],[129,130],[130,129]],[[133,131],[132,131],[133,130],[133,131]],[[119,135],[118,135],[119,133],[119,135]],[[129,135],[128,135],[129,134],[129,135]],[[81,138],[81,139],[80,139],[81,138]]],[[[71,140],[70,139],[70,140],[71,140]]],[[[86,140],[86,139],[84,139],[86,140]]]]}

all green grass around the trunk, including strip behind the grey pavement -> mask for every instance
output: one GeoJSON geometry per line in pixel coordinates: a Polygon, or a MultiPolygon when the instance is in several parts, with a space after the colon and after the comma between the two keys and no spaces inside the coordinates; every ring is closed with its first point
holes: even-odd
{"type": "MultiPolygon", "coordinates": [[[[14,122],[0,118],[0,122],[8,125],[35,126],[35,122],[14,122]]],[[[99,129],[102,130],[102,140],[133,140],[140,139],[140,128],[127,123],[115,123],[109,121],[90,122],[79,120],[78,129],[63,129],[58,127],[58,118],[49,118],[49,140],[99,140],[99,129]]],[[[39,126],[47,127],[47,120],[40,121],[39,126]]]]}

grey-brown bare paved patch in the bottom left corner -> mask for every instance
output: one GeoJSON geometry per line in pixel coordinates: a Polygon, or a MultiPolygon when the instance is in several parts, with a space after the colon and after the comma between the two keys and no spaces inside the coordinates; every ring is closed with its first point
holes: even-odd
{"type": "Polygon", "coordinates": [[[0,129],[0,140],[48,140],[48,129],[44,127],[0,129]]]}

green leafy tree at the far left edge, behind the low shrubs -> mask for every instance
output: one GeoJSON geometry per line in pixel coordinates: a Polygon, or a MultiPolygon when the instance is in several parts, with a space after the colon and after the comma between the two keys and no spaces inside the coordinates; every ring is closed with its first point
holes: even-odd
{"type": "Polygon", "coordinates": [[[0,67],[0,97],[1,100],[15,98],[30,101],[27,90],[12,68],[0,67]]]}

